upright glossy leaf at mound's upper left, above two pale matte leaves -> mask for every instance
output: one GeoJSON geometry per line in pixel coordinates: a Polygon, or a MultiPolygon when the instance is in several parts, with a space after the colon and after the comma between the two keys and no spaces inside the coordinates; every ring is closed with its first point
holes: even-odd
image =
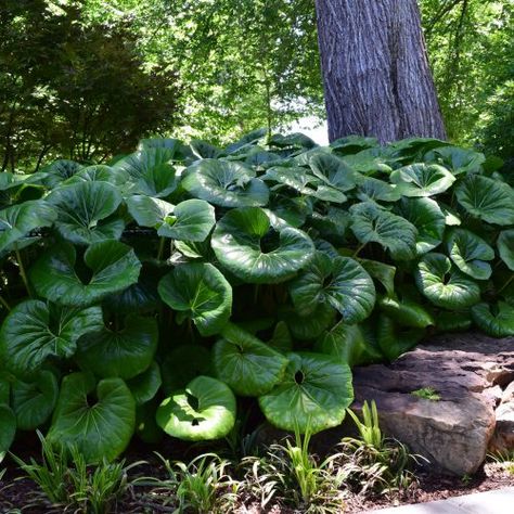
{"type": "Polygon", "coordinates": [[[124,157],[113,167],[128,175],[128,191],[131,194],[164,198],[179,183],[171,163],[172,156],[167,149],[150,147],[124,157]]]}

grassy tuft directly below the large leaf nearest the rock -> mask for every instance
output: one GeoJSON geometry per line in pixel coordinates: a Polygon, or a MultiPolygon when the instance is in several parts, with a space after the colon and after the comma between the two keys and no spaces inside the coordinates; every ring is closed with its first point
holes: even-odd
{"type": "Polygon", "coordinates": [[[286,439],[285,445],[271,445],[267,455],[243,461],[249,492],[259,498],[262,509],[274,500],[308,513],[340,512],[343,479],[334,466],[337,455],[318,463],[309,442],[309,432],[301,437],[296,429],[294,444],[286,439]]]}

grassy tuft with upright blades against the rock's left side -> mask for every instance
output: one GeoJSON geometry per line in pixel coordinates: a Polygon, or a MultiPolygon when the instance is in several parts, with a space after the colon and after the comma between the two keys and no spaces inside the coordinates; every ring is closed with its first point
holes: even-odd
{"type": "Polygon", "coordinates": [[[406,445],[385,437],[374,401],[371,407],[364,401],[362,421],[355,412],[348,410],[348,413],[360,436],[345,437],[340,442],[340,472],[349,488],[362,496],[408,489],[415,481],[410,467],[423,458],[410,453],[406,445]]]}

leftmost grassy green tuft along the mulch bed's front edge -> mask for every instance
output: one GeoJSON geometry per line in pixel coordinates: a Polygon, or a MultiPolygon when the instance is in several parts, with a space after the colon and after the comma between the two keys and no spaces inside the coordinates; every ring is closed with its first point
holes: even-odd
{"type": "Polygon", "coordinates": [[[88,466],[77,448],[69,452],[54,448],[41,434],[41,463],[13,455],[20,467],[34,480],[52,505],[65,506],[77,513],[106,514],[130,486],[128,471],[141,464],[103,461],[88,466]],[[73,462],[73,464],[70,464],[73,462]]]}

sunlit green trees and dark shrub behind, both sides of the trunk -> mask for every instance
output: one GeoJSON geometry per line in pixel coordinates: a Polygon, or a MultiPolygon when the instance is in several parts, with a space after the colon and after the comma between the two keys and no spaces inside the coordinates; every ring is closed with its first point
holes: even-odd
{"type": "MultiPolygon", "coordinates": [[[[449,138],[512,162],[514,2],[420,0],[449,138]]],[[[0,166],[324,118],[312,0],[0,0],[0,166]]]]}

